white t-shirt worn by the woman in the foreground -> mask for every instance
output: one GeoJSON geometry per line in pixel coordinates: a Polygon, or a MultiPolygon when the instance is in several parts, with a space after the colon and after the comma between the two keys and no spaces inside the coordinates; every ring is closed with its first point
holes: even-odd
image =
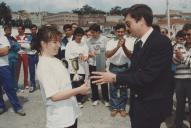
{"type": "Polygon", "coordinates": [[[79,107],[74,96],[53,102],[50,97],[56,93],[72,89],[70,75],[57,58],[40,56],[37,78],[41,94],[46,103],[47,128],[64,128],[74,124],[79,116],[79,107]]]}

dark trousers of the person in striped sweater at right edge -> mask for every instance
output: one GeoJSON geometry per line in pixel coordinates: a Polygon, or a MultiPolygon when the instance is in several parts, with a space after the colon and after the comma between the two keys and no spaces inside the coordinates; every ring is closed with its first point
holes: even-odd
{"type": "Polygon", "coordinates": [[[176,119],[175,124],[177,128],[183,125],[185,114],[186,98],[189,103],[189,122],[191,124],[191,79],[175,79],[176,92],[176,119]]]}

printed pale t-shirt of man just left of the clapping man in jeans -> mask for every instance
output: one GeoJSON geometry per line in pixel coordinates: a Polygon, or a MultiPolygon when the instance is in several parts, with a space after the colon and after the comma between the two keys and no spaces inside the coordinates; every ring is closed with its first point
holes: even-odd
{"type": "MultiPolygon", "coordinates": [[[[100,35],[98,39],[90,38],[87,41],[89,52],[96,51],[97,49],[100,49],[100,48],[105,49],[108,41],[109,39],[103,35],[100,35]]],[[[90,57],[88,62],[89,62],[89,65],[96,66],[96,57],[90,57]]]]}

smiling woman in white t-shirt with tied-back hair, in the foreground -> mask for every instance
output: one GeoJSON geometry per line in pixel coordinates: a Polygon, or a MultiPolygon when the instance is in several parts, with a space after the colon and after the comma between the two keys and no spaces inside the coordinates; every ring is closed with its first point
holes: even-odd
{"type": "Polygon", "coordinates": [[[60,32],[53,26],[39,29],[34,44],[39,52],[37,78],[46,103],[47,128],[77,128],[79,108],[74,97],[87,94],[88,86],[72,89],[70,75],[60,60],[54,56],[60,47],[60,32]]]}

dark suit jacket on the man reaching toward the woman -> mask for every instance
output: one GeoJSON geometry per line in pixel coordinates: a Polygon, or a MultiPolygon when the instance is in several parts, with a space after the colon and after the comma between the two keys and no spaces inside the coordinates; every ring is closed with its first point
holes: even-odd
{"type": "Polygon", "coordinates": [[[133,52],[130,70],[117,74],[116,81],[130,88],[132,100],[169,99],[170,102],[173,94],[172,55],[170,40],[153,30],[140,52],[133,52]]]}

